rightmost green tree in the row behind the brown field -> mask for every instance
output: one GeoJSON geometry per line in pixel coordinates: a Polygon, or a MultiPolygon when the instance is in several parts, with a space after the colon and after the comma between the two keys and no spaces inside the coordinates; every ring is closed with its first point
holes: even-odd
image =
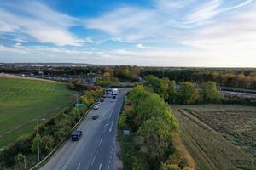
{"type": "Polygon", "coordinates": [[[222,94],[218,92],[216,82],[205,82],[202,84],[203,99],[206,102],[218,103],[223,98],[222,94]]]}

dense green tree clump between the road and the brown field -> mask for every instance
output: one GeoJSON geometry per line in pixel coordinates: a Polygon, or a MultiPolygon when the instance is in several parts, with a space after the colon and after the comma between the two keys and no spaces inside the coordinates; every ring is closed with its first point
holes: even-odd
{"type": "Polygon", "coordinates": [[[194,168],[169,106],[143,86],[133,88],[126,98],[119,117],[119,141],[127,170],[194,168]],[[130,130],[131,135],[123,136],[123,130],[130,130]]]}

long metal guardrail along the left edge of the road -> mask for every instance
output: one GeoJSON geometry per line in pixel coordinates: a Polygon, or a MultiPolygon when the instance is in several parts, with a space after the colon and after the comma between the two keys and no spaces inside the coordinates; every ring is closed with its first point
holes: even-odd
{"type": "Polygon", "coordinates": [[[79,124],[84,120],[85,116],[88,115],[89,111],[92,109],[92,107],[93,107],[94,105],[96,105],[96,102],[97,102],[101,97],[102,97],[102,96],[100,96],[98,99],[96,99],[96,101],[95,101],[92,105],[90,105],[90,108],[86,111],[86,113],[84,114],[84,116],[81,117],[81,119],[79,120],[79,122],[77,122],[77,123],[72,127],[72,129],[69,131],[69,133],[67,133],[67,135],[61,140],[61,142],[55,146],[55,148],[48,154],[48,156],[45,156],[43,160],[39,161],[36,165],[34,165],[33,167],[31,167],[29,170],[34,170],[34,169],[38,169],[39,167],[42,167],[42,166],[44,165],[44,164],[42,164],[42,163],[44,163],[44,161],[47,161],[48,158],[49,158],[50,156],[52,156],[52,155],[55,153],[56,150],[61,149],[61,145],[64,144],[64,142],[65,142],[67,139],[69,139],[69,136],[70,136],[71,133],[73,133],[73,130],[79,126],[79,124]]]}

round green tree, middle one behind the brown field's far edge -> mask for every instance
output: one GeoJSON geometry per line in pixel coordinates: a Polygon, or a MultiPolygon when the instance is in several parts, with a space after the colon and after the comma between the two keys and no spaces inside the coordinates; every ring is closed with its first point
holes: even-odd
{"type": "Polygon", "coordinates": [[[200,97],[197,88],[190,82],[182,82],[178,93],[182,104],[195,104],[200,97]]]}

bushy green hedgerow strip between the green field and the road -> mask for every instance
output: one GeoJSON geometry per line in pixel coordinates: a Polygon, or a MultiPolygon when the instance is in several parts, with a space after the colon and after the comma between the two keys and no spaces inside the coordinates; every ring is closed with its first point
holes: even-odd
{"type": "MultiPolygon", "coordinates": [[[[36,95],[36,91],[33,94],[36,95]]],[[[79,97],[79,101],[85,105],[84,108],[75,108],[73,102],[66,105],[63,111],[58,111],[49,120],[39,124],[40,160],[44,159],[55,147],[58,147],[63,140],[68,139],[68,134],[71,133],[73,126],[85,116],[90,105],[102,94],[102,88],[84,91],[79,97]]],[[[22,169],[24,166],[23,156],[26,156],[28,168],[38,163],[37,127],[32,128],[34,129],[32,132],[14,139],[12,144],[5,146],[4,150],[0,152],[0,169],[22,169]]]]}

